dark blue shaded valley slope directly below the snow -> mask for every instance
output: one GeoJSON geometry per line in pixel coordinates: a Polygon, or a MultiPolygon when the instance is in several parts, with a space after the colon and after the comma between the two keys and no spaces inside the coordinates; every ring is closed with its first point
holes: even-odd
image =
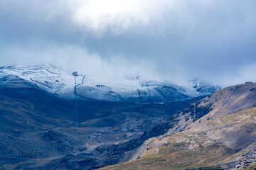
{"type": "MultiPolygon", "coordinates": [[[[71,158],[82,158],[79,164],[84,169],[95,166],[98,158],[91,154],[98,153],[98,145],[137,138],[189,102],[66,100],[15,75],[1,77],[0,167],[33,169],[51,164],[50,169],[55,169],[71,158]]],[[[67,169],[75,167],[73,163],[66,164],[67,169]]]]}

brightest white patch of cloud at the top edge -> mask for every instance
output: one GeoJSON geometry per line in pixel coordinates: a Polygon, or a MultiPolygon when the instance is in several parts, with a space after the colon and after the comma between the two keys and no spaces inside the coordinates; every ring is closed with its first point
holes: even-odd
{"type": "Polygon", "coordinates": [[[122,33],[137,26],[150,26],[161,18],[172,1],[154,0],[76,0],[66,1],[72,21],[93,33],[122,33]]]}

